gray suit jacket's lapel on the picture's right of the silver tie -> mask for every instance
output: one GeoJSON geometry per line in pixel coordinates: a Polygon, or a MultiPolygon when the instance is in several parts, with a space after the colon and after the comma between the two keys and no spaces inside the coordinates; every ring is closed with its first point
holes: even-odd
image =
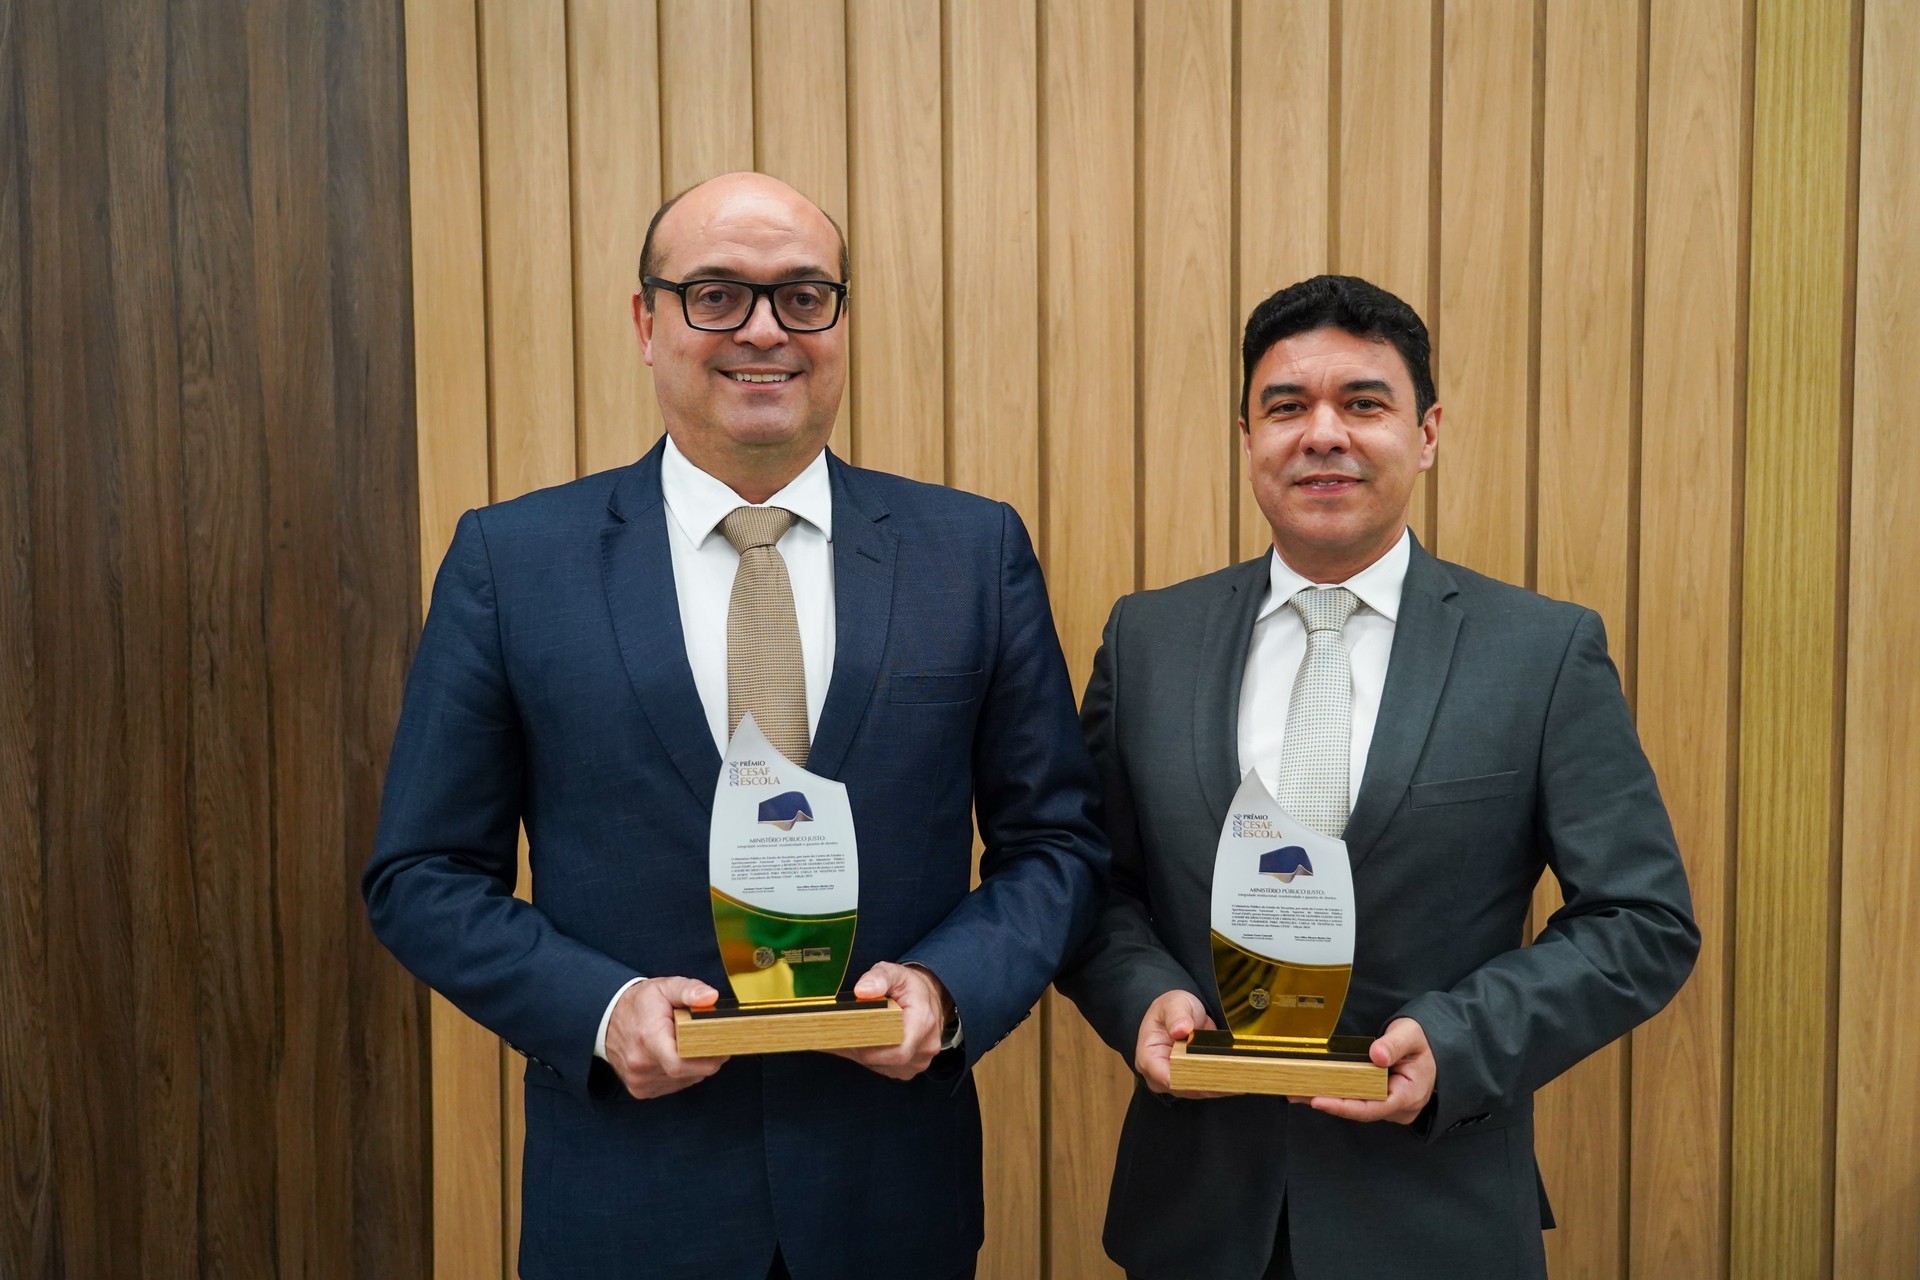
{"type": "Polygon", "coordinates": [[[1394,649],[1386,660],[1386,689],[1380,691],[1380,714],[1367,748],[1367,773],[1346,823],[1346,848],[1354,865],[1373,850],[1386,819],[1400,808],[1427,747],[1434,708],[1453,666],[1453,641],[1459,637],[1461,614],[1448,603],[1453,593],[1453,578],[1415,539],[1407,583],[1400,593],[1394,649]]]}

